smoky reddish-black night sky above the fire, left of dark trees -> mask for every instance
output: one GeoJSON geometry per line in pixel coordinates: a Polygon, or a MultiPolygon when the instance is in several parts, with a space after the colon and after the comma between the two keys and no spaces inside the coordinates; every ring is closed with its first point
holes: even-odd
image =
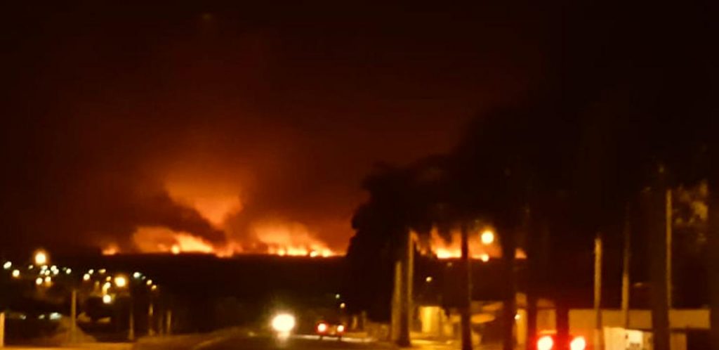
{"type": "Polygon", "coordinates": [[[372,165],[451,149],[546,75],[558,25],[511,6],[241,2],[6,8],[2,243],[127,247],[139,226],[221,241],[272,219],[344,249],[372,165]],[[242,209],[214,225],[173,190],[242,209]]]}

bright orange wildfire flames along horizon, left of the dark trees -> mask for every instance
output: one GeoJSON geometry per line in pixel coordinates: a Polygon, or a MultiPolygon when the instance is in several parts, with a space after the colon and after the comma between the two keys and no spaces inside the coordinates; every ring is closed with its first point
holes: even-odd
{"type": "MultiPolygon", "coordinates": [[[[317,238],[306,225],[290,220],[252,220],[238,229],[231,220],[242,213],[243,205],[239,195],[227,194],[232,189],[178,182],[166,187],[174,202],[197,212],[212,228],[224,234],[224,240],[211,240],[188,230],[163,225],[141,225],[132,233],[132,244],[139,252],[206,253],[221,257],[240,253],[328,257],[342,253],[317,238]]],[[[114,242],[107,243],[102,253],[114,255],[122,253],[122,249],[114,242]]]]}

